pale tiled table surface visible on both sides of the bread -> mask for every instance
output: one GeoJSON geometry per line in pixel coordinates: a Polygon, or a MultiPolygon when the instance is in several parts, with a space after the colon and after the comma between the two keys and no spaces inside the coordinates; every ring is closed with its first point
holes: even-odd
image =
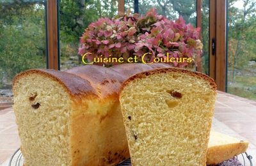
{"type": "MultiPolygon", "coordinates": [[[[248,140],[247,152],[256,165],[256,102],[218,91],[212,129],[248,140]]],[[[7,165],[10,156],[20,147],[12,108],[0,110],[0,164],[7,165]]]]}

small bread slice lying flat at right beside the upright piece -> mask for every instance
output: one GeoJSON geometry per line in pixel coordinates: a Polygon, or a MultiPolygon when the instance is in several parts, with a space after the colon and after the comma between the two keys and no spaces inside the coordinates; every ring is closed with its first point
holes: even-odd
{"type": "Polygon", "coordinates": [[[207,164],[217,164],[244,153],[248,147],[245,140],[236,139],[223,133],[211,131],[208,151],[207,164]]]}

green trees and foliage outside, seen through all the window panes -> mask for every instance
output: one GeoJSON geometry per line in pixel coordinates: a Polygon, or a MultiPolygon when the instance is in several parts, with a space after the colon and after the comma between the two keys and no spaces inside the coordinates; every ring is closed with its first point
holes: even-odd
{"type": "MultiPolygon", "coordinates": [[[[196,1],[140,0],[140,13],[155,7],[168,19],[182,15],[196,26],[196,1]]],[[[61,70],[79,65],[77,48],[84,28],[117,14],[117,0],[60,0],[61,70]]],[[[256,100],[256,11],[253,0],[228,0],[228,93],[256,100]],[[240,2],[240,5],[237,5],[240,2]]],[[[125,10],[133,11],[133,0],[125,10]]],[[[0,88],[16,73],[45,68],[44,1],[0,1],[0,88]]],[[[209,0],[202,1],[202,69],[209,73],[209,0]]]]}

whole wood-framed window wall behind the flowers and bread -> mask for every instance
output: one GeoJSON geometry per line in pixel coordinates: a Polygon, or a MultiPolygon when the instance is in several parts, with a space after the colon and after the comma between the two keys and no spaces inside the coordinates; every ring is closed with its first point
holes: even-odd
{"type": "Polygon", "coordinates": [[[253,0],[125,0],[125,3],[124,0],[52,0],[47,1],[47,6],[46,0],[0,1],[0,93],[3,89],[11,89],[16,73],[29,68],[45,68],[47,53],[49,68],[58,69],[58,63],[61,70],[81,65],[81,56],[77,54],[79,37],[91,22],[100,17],[113,17],[118,10],[145,14],[150,8],[156,8],[159,14],[170,20],[182,16],[187,23],[201,27],[204,47],[198,71],[214,78],[221,91],[226,88],[228,93],[256,98],[256,24],[253,17],[256,7],[253,0]],[[55,17],[47,22],[48,29],[51,27],[49,38],[45,37],[46,8],[48,19],[55,17]],[[56,35],[53,40],[52,35],[56,35]],[[57,54],[60,54],[60,62],[57,54]]]}

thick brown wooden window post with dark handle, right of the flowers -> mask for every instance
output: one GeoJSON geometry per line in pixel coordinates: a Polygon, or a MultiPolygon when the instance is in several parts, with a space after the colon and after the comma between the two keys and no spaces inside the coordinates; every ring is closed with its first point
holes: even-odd
{"type": "Polygon", "coordinates": [[[209,0],[209,5],[209,76],[215,80],[218,90],[226,92],[227,0],[209,0]]]}

